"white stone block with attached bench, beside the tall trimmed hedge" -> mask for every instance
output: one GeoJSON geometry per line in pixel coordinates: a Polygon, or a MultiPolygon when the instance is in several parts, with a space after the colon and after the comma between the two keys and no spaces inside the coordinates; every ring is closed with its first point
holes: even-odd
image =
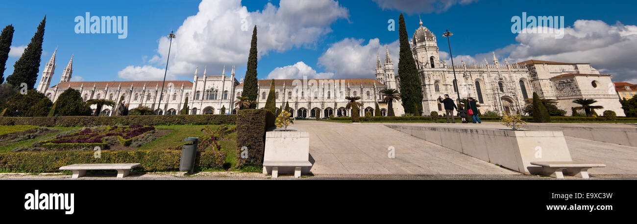
{"type": "MultiPolygon", "coordinates": [[[[310,133],[288,127],[273,129],[266,132],[266,146],[263,156],[267,162],[292,162],[314,164],[310,157],[310,133]]],[[[301,173],[310,172],[310,166],[304,166],[301,173]]],[[[271,173],[272,167],[264,166],[264,173],[271,173]]],[[[293,174],[294,167],[279,167],[280,174],[293,174]]]]}

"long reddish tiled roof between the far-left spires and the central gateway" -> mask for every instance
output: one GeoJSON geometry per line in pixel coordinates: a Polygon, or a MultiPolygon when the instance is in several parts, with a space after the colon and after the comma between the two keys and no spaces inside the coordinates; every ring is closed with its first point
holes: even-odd
{"type": "MultiPolygon", "coordinates": [[[[105,88],[107,85],[108,87],[111,88],[117,88],[119,86],[121,87],[131,87],[131,85],[133,87],[161,87],[161,83],[162,81],[62,81],[61,83],[58,83],[57,85],[54,85],[53,87],[50,88],[80,88],[80,87],[84,87],[84,88],[92,88],[93,85],[95,85],[96,88],[105,88]]],[[[173,81],[168,81],[166,80],[166,83],[164,84],[164,87],[168,87],[169,83],[173,83],[173,87],[192,87],[192,82],[190,81],[182,81],[182,80],[173,80],[173,81]]]]}

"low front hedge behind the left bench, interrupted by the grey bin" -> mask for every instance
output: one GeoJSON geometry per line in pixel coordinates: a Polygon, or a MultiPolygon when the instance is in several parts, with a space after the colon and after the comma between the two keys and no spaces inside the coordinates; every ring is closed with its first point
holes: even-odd
{"type": "MultiPolygon", "coordinates": [[[[178,171],[180,150],[127,150],[101,151],[101,158],[94,158],[94,151],[25,151],[0,153],[0,169],[14,172],[57,172],[59,167],[71,164],[140,163],[134,172],[178,171]]],[[[206,150],[197,153],[197,170],[222,168],[225,152],[206,150]]]]}

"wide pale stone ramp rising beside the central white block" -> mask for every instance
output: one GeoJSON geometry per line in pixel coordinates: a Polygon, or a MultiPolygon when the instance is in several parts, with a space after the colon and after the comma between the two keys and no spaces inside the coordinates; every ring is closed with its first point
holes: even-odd
{"type": "Polygon", "coordinates": [[[322,174],[519,174],[399,132],[382,123],[299,120],[310,132],[311,172],[322,174]],[[394,147],[396,158],[389,158],[394,147]]]}

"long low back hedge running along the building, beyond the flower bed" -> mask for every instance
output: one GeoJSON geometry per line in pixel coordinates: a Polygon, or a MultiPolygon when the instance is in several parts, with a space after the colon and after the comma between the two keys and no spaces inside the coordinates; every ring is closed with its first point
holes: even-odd
{"type": "Polygon", "coordinates": [[[103,125],[219,125],[236,123],[237,115],[41,116],[0,117],[0,125],[92,127],[103,125]]]}

